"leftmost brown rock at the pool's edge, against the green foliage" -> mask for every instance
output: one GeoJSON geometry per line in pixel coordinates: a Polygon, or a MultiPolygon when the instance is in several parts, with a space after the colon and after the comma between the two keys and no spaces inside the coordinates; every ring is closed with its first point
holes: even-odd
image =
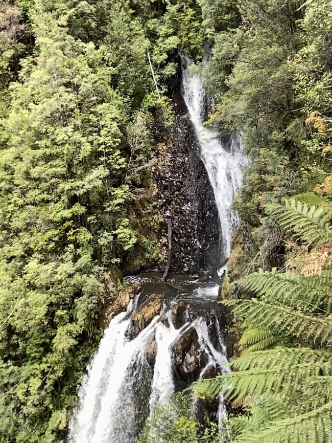
{"type": "MultiPolygon", "coordinates": [[[[111,291],[108,285],[107,291],[111,291]]],[[[108,304],[102,309],[99,316],[99,324],[103,329],[109,325],[109,322],[113,317],[124,312],[130,300],[132,300],[140,292],[140,287],[137,283],[129,283],[113,300],[109,301],[108,304]]]]}

